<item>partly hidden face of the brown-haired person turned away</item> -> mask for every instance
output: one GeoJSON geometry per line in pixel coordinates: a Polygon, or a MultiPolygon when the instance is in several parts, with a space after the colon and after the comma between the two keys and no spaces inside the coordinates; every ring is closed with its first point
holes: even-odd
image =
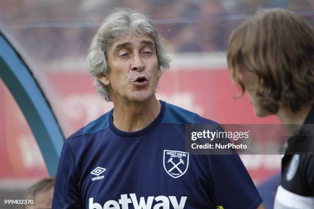
{"type": "Polygon", "coordinates": [[[257,96],[259,88],[258,76],[244,69],[240,71],[240,76],[244,83],[245,90],[247,91],[248,98],[253,106],[254,113],[259,117],[271,115],[271,113],[261,105],[261,99],[257,96]]]}

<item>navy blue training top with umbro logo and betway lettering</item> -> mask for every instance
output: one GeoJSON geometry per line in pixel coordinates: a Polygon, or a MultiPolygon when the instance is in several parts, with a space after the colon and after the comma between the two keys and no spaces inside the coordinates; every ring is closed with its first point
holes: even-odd
{"type": "Polygon", "coordinates": [[[214,124],[161,102],[148,127],[123,132],[113,110],[64,143],[52,208],[257,208],[262,199],[238,155],[189,155],[185,124],[214,124]]]}

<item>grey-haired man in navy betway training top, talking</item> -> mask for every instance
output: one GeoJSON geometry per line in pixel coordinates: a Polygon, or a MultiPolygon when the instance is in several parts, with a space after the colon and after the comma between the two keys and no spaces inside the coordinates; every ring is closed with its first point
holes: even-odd
{"type": "Polygon", "coordinates": [[[156,99],[162,70],[169,68],[164,51],[145,15],[115,9],[104,20],[88,54],[89,70],[114,109],[65,141],[53,208],[261,205],[238,155],[185,152],[185,124],[214,122],[156,99]]]}

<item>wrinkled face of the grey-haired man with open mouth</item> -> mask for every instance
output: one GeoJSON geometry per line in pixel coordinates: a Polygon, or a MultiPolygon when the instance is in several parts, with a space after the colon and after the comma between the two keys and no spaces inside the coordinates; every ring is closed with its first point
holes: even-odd
{"type": "Polygon", "coordinates": [[[161,71],[150,37],[129,36],[115,41],[107,60],[109,73],[99,79],[108,86],[113,101],[143,102],[154,95],[161,71]]]}

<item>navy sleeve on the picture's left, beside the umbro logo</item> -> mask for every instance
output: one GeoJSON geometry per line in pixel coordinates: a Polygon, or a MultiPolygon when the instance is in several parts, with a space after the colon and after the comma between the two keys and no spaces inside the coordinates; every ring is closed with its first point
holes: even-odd
{"type": "Polygon", "coordinates": [[[52,209],[84,207],[77,181],[74,158],[69,144],[65,140],[55,179],[52,209]]]}

